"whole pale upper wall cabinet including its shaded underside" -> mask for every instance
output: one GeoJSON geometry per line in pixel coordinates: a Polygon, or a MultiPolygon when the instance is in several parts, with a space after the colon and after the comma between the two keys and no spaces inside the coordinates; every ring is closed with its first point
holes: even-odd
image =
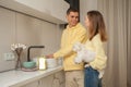
{"type": "Polygon", "coordinates": [[[67,22],[70,7],[64,0],[0,0],[0,5],[57,24],[67,22]]]}

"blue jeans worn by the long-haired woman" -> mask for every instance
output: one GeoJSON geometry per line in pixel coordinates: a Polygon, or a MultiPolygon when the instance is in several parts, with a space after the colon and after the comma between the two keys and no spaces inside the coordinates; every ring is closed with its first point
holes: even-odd
{"type": "Polygon", "coordinates": [[[91,66],[85,67],[84,87],[102,87],[102,79],[98,72],[91,66]]]}

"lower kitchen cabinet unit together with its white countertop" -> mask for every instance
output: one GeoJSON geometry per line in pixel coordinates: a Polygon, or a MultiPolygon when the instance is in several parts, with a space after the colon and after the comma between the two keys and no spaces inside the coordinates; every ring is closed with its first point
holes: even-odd
{"type": "Polygon", "coordinates": [[[0,87],[64,87],[63,67],[58,65],[45,71],[3,72],[0,73],[0,87]]]}

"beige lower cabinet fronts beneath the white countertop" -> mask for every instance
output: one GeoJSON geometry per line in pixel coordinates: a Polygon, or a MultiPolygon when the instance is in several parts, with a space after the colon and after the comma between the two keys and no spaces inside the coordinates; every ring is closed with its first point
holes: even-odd
{"type": "Polygon", "coordinates": [[[64,72],[57,72],[21,87],[64,87],[64,72]]]}

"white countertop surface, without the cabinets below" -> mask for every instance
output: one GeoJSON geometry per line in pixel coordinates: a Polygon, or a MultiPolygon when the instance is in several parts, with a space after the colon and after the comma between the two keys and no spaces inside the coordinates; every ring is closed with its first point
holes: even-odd
{"type": "Polygon", "coordinates": [[[0,87],[20,87],[22,85],[37,80],[61,70],[63,70],[62,66],[34,72],[23,72],[15,70],[3,72],[0,73],[0,87]]]}

